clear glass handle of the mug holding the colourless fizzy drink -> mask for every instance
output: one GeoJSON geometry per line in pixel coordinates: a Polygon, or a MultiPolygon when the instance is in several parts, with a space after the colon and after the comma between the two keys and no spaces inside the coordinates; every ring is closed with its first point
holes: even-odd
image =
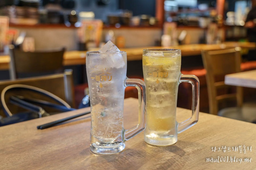
{"type": "Polygon", "coordinates": [[[130,138],[134,137],[135,135],[139,134],[145,129],[146,120],[145,120],[145,107],[146,107],[146,100],[145,100],[145,83],[141,79],[135,78],[127,78],[125,81],[125,86],[133,86],[138,89],[139,95],[139,123],[137,126],[132,127],[131,129],[125,130],[124,132],[124,141],[129,140],[130,138]]]}

